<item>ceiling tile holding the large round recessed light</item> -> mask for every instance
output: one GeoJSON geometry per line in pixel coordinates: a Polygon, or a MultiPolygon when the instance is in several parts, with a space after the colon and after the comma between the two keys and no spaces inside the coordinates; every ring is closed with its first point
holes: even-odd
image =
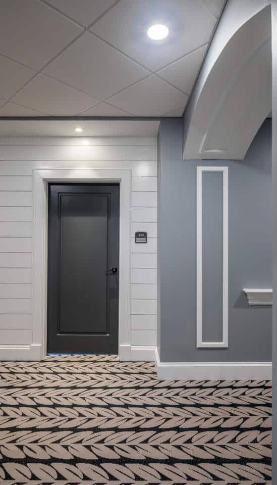
{"type": "Polygon", "coordinates": [[[215,23],[201,0],[121,0],[91,31],[156,71],[207,43],[215,23]],[[170,34],[153,41],[147,29],[157,23],[167,25],[170,34]]]}

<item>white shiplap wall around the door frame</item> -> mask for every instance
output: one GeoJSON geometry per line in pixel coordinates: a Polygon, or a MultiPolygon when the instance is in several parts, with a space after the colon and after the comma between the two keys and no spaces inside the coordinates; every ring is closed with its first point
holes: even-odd
{"type": "Polygon", "coordinates": [[[156,138],[0,139],[1,346],[32,343],[32,170],[132,170],[130,343],[156,345],[156,138]],[[145,230],[147,245],[134,233],[145,230]]]}

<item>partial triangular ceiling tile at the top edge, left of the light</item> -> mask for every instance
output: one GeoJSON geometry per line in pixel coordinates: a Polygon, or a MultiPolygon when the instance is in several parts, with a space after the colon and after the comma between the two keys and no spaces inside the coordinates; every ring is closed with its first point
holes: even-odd
{"type": "Polygon", "coordinates": [[[115,4],[115,0],[48,0],[47,3],[87,27],[115,4]]]}

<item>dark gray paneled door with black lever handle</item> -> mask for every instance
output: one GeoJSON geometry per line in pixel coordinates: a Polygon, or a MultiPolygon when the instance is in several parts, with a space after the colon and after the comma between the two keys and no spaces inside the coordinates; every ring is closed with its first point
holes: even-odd
{"type": "Polygon", "coordinates": [[[47,352],[118,353],[119,185],[49,184],[47,352]]]}

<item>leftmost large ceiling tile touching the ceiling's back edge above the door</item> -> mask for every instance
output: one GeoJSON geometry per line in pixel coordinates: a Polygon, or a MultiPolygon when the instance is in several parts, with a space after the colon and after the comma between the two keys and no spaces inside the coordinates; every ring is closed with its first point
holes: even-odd
{"type": "Polygon", "coordinates": [[[44,74],[38,74],[12,101],[49,115],[73,116],[99,100],[44,74]]]}

